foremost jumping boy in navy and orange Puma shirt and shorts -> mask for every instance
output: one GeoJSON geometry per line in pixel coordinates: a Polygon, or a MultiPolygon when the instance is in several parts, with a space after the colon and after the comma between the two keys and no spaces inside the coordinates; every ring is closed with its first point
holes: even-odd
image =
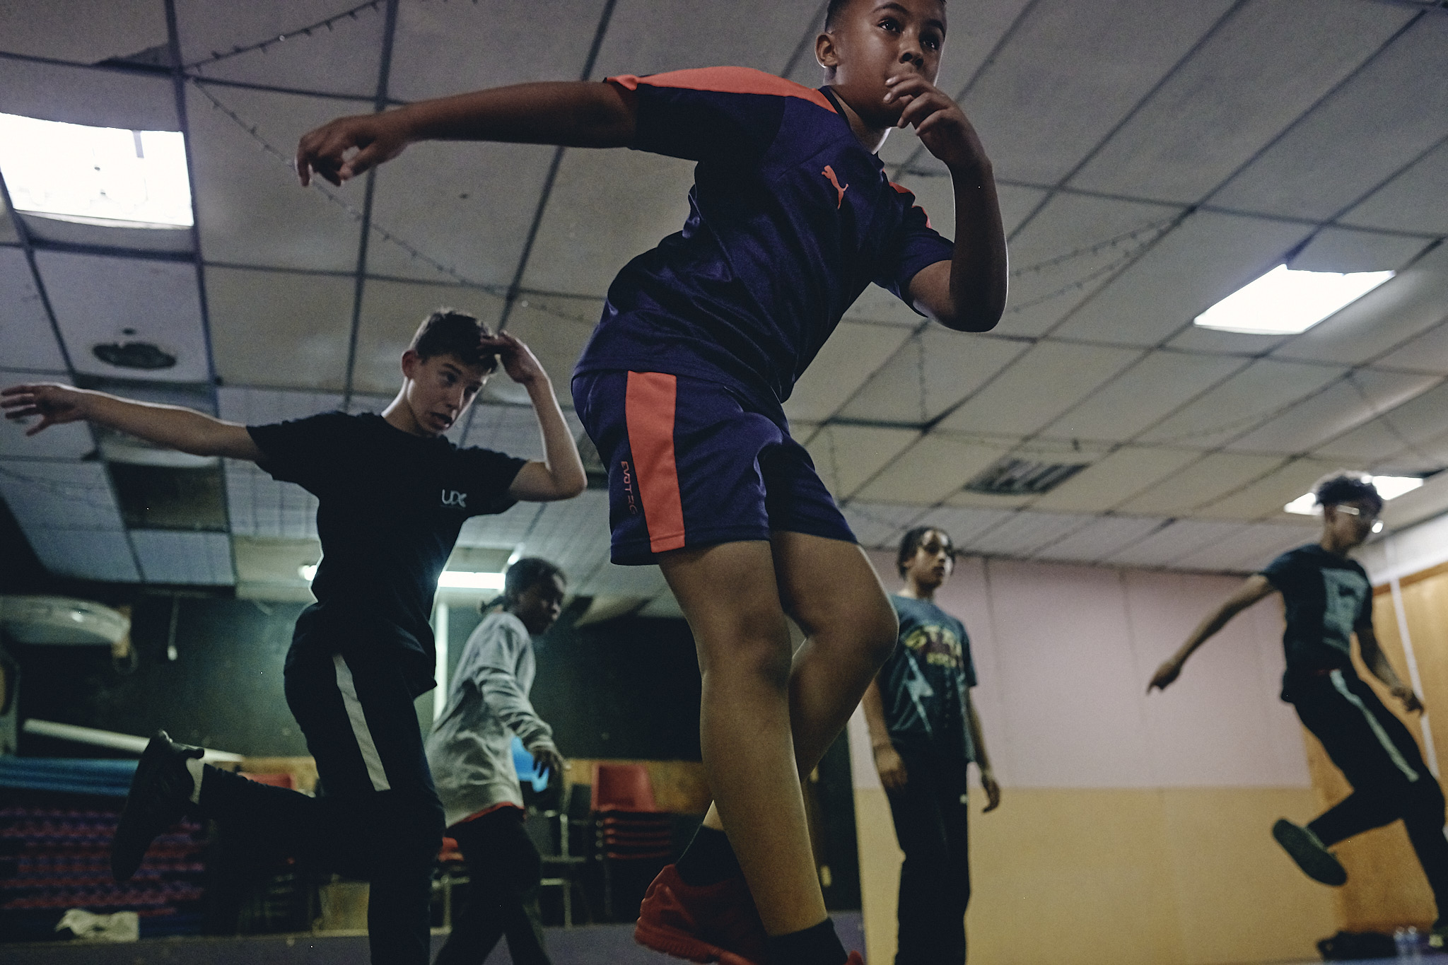
{"type": "Polygon", "coordinates": [[[659,563],[704,674],[714,807],[636,932],[673,955],[846,961],[799,773],[844,726],[896,622],[782,402],[870,282],[950,328],[999,320],[990,162],[934,87],[944,20],[943,0],[833,0],[815,41],[820,90],[743,68],[520,84],[342,117],[298,145],[304,184],[313,172],[340,184],[426,139],[698,161],[683,230],[618,273],[573,378],[610,466],[613,557],[659,563]],[[954,243],[875,156],[909,126],[950,171],[954,243]],[[809,637],[792,664],[786,613],[809,637]]]}

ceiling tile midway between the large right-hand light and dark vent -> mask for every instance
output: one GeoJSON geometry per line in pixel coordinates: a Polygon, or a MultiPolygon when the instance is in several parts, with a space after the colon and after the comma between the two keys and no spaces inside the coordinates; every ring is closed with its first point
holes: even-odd
{"type": "Polygon", "coordinates": [[[1153,352],[1041,434],[1051,438],[1125,441],[1244,365],[1245,359],[1153,352]]]}

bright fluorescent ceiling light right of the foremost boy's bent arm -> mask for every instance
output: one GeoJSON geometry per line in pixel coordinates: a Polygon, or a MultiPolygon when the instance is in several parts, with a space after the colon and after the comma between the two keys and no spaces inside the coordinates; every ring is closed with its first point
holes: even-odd
{"type": "Polygon", "coordinates": [[[1396,272],[1295,272],[1279,265],[1193,323],[1218,331],[1293,336],[1368,294],[1396,272]]]}

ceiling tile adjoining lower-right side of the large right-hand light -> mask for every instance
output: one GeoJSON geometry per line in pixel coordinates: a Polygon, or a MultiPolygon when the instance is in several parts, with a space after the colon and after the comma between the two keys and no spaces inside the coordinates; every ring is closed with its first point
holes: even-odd
{"type": "Polygon", "coordinates": [[[1444,318],[1445,304],[1448,245],[1439,245],[1392,281],[1283,343],[1273,354],[1361,365],[1436,326],[1444,318]]]}

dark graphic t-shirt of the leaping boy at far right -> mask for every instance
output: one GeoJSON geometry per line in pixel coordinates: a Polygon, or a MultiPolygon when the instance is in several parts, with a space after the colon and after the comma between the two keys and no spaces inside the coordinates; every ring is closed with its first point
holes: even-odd
{"type": "Polygon", "coordinates": [[[1316,543],[1289,550],[1261,574],[1281,593],[1287,677],[1352,667],[1352,631],[1373,626],[1373,583],[1357,560],[1316,543]]]}

